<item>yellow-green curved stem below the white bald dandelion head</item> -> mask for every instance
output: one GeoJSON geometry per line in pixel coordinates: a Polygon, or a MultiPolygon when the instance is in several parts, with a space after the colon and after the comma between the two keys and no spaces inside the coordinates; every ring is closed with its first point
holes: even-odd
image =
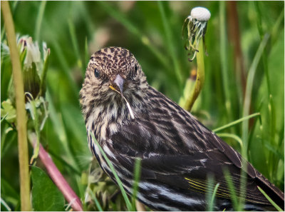
{"type": "Polygon", "coordinates": [[[195,81],[195,88],[192,91],[190,99],[186,101],[186,110],[191,111],[193,104],[195,103],[197,97],[199,96],[200,91],[204,85],[204,46],[203,42],[199,42],[197,53],[197,78],[195,81]]]}

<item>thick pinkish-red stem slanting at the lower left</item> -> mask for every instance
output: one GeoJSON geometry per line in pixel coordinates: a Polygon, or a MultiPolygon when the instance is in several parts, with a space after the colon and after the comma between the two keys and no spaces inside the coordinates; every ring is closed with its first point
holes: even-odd
{"type": "Polygon", "coordinates": [[[71,207],[73,208],[73,210],[83,211],[80,198],[78,198],[76,193],[72,190],[71,186],[68,185],[66,179],[63,178],[61,172],[58,171],[58,168],[53,163],[51,156],[49,156],[43,146],[41,146],[41,143],[38,155],[41,158],[41,162],[46,167],[48,175],[51,177],[56,186],[58,186],[58,189],[61,191],[61,193],[63,193],[63,196],[66,198],[66,201],[68,201],[68,203],[71,203],[71,207]]]}

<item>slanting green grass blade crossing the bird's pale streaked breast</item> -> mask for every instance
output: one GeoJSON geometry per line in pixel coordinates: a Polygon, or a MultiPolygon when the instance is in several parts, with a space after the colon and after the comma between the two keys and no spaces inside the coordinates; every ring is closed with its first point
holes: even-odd
{"type": "Polygon", "coordinates": [[[113,175],[115,176],[115,179],[116,179],[116,181],[118,183],[120,191],[121,191],[121,193],[123,195],[123,198],[125,200],[125,204],[127,205],[128,211],[131,211],[132,210],[132,204],[130,203],[130,200],[129,200],[128,196],[127,196],[127,193],[125,192],[125,189],[123,187],[123,183],[120,181],[120,178],[119,178],[118,174],[116,173],[113,164],[110,162],[109,158],[106,156],[105,151],[103,151],[103,148],[100,146],[100,144],[98,143],[98,141],[94,137],[93,133],[90,132],[90,131],[88,133],[90,133],[90,135],[93,138],[93,141],[98,146],[98,148],[100,150],[100,153],[103,155],[103,157],[105,158],[105,161],[108,163],[108,166],[111,169],[111,171],[112,171],[113,175]]]}

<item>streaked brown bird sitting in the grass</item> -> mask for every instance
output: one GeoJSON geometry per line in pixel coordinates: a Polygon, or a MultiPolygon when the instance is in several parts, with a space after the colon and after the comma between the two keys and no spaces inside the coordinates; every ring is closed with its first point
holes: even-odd
{"type": "Polygon", "coordinates": [[[135,161],[140,160],[137,198],[149,208],[205,211],[212,176],[219,183],[214,210],[232,211],[227,170],[237,196],[245,172],[244,210],[276,210],[258,186],[284,209],[284,193],[190,112],[150,86],[128,49],[110,46],[90,57],[80,104],[90,151],[115,181],[95,138],[129,195],[135,161]]]}

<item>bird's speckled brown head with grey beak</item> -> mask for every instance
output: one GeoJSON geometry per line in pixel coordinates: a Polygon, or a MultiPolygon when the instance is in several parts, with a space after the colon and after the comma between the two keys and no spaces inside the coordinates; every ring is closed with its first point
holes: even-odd
{"type": "Polygon", "coordinates": [[[80,92],[83,113],[99,107],[125,107],[125,99],[136,106],[147,87],[145,74],[130,51],[120,47],[100,49],[90,57],[86,69],[80,92]]]}

